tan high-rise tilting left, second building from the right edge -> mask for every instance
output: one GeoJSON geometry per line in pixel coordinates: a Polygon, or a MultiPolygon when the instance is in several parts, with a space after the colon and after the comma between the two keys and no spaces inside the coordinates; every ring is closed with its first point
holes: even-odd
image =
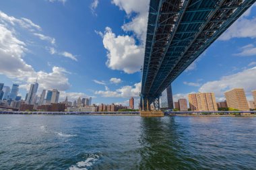
{"type": "Polygon", "coordinates": [[[244,89],[236,88],[225,92],[228,108],[237,110],[249,110],[247,98],[244,89]]]}

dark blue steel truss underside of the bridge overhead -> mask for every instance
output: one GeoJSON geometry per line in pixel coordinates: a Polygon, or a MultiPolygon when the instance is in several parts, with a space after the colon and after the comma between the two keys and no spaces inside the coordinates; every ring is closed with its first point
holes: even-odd
{"type": "Polygon", "coordinates": [[[141,108],[159,99],[255,0],[151,0],[141,108]]]}

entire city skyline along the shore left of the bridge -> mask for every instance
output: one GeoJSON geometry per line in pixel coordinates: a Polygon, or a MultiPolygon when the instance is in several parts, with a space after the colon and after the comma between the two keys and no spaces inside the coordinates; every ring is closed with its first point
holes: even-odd
{"type": "Polygon", "coordinates": [[[19,111],[43,111],[43,112],[117,112],[123,109],[134,109],[134,99],[129,100],[129,107],[121,104],[92,104],[92,97],[81,98],[71,102],[67,100],[59,102],[60,92],[57,89],[43,89],[40,96],[38,83],[32,83],[25,99],[18,96],[19,85],[13,84],[10,88],[0,83],[0,106],[2,108],[17,109],[19,111]]]}

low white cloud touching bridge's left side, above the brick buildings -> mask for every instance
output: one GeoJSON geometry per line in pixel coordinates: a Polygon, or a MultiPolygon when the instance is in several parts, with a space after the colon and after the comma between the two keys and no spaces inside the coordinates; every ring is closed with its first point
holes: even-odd
{"type": "Polygon", "coordinates": [[[135,85],[126,85],[121,87],[120,89],[116,89],[115,91],[110,91],[106,89],[106,91],[95,91],[96,95],[101,95],[102,97],[138,97],[139,92],[141,90],[141,83],[135,83],[135,85]]]}

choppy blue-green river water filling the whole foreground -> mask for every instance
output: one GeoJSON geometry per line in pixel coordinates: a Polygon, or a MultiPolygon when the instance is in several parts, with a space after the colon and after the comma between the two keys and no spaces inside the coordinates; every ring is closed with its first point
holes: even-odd
{"type": "Polygon", "coordinates": [[[256,169],[256,118],[0,115],[0,169],[256,169]]]}

